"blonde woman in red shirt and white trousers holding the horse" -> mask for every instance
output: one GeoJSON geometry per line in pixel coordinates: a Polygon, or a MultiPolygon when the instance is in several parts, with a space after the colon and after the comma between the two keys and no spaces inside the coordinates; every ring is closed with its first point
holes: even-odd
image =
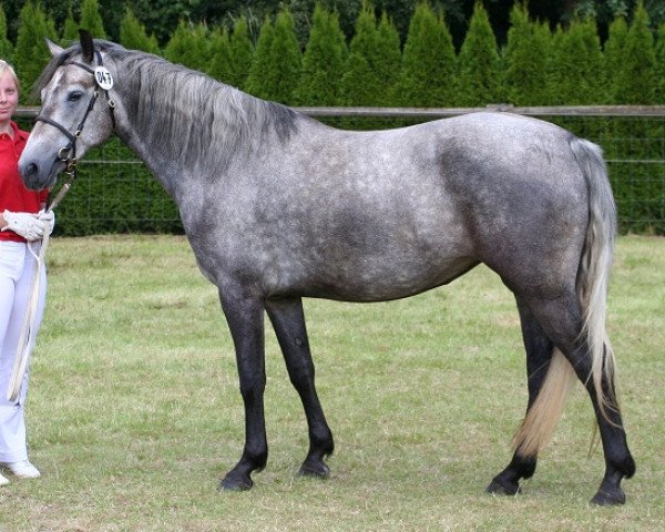
{"type": "MultiPolygon", "coordinates": [[[[28,133],[11,121],[19,105],[19,90],[13,69],[0,60],[0,468],[18,478],[35,479],[40,472],[28,460],[23,411],[29,372],[17,401],[7,400],[7,389],[37,265],[33,254],[39,253],[44,234],[53,231],[54,221],[52,212],[43,212],[48,192],[28,191],[19,177],[17,163],[28,141],[28,133]]],[[[41,272],[38,328],[45,296],[45,272],[41,272]]],[[[0,473],[0,485],[8,483],[0,473]]]]}

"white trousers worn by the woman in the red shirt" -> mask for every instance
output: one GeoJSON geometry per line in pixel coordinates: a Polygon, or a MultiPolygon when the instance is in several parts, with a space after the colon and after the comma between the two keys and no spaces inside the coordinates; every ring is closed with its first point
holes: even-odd
{"type": "MultiPolygon", "coordinates": [[[[39,254],[39,244],[31,244],[39,254]]],[[[30,368],[25,371],[21,393],[14,402],[7,400],[14,358],[30,296],[37,260],[27,244],[0,242],[0,462],[28,459],[24,403],[30,368]]],[[[41,324],[47,294],[45,268],[42,268],[37,329],[41,324]]],[[[37,334],[37,332],[35,332],[37,334]]]]}

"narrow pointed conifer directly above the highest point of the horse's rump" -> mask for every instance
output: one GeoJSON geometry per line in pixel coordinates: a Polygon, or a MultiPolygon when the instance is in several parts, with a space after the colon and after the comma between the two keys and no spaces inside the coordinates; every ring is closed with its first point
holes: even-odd
{"type": "Polygon", "coordinates": [[[480,2],[475,3],[458,60],[458,94],[453,103],[477,106],[501,100],[501,59],[490,18],[480,2]]]}

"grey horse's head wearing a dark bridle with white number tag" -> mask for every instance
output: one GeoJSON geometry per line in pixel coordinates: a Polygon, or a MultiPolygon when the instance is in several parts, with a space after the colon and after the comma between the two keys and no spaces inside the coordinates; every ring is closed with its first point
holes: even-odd
{"type": "Polygon", "coordinates": [[[81,30],[80,43],[66,50],[47,43],[52,59],[37,85],[42,106],[19,160],[19,173],[33,190],[51,187],[58,174],[73,172],[76,157],[115,129],[113,75],[90,33],[81,30]]]}

